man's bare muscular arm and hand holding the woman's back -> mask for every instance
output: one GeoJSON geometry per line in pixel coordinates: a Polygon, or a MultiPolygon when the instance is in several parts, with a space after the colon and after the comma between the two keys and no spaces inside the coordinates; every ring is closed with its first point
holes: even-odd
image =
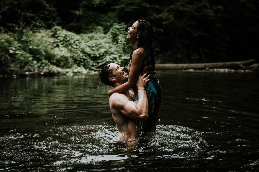
{"type": "Polygon", "coordinates": [[[148,100],[146,96],[145,87],[150,79],[150,75],[144,74],[139,76],[136,86],[138,87],[138,101],[129,101],[129,99],[123,94],[112,94],[110,101],[112,100],[112,108],[120,111],[125,116],[136,120],[148,119],[148,100]]]}

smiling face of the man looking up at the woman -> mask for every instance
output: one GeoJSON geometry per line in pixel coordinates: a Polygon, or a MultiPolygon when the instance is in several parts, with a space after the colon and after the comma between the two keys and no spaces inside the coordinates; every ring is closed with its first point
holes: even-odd
{"type": "Polygon", "coordinates": [[[116,63],[110,64],[110,69],[115,75],[114,78],[116,79],[116,82],[119,84],[123,84],[128,81],[128,74],[125,72],[124,67],[120,67],[116,63]]]}

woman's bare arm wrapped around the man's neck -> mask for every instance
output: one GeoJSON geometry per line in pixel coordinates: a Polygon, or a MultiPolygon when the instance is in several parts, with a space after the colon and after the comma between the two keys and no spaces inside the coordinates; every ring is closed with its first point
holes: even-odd
{"type": "Polygon", "coordinates": [[[143,58],[144,58],[144,52],[143,49],[138,48],[135,50],[132,54],[131,59],[131,65],[130,65],[130,71],[129,71],[129,79],[124,84],[121,84],[120,86],[117,86],[111,90],[108,91],[108,97],[110,97],[115,92],[122,92],[129,88],[132,88],[137,80],[138,76],[142,70],[142,64],[143,64],[143,58]]]}

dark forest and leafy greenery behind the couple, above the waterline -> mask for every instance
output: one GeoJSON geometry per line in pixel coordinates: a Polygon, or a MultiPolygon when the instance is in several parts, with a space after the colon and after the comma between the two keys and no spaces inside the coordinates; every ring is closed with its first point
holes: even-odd
{"type": "Polygon", "coordinates": [[[127,28],[156,31],[156,62],[256,59],[257,0],[0,0],[0,75],[87,73],[123,63],[127,28]]]}

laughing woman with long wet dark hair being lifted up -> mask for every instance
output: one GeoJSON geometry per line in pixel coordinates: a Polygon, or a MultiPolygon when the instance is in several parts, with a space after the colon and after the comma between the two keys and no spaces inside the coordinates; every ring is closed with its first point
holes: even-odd
{"type": "MultiPolygon", "coordinates": [[[[161,85],[155,76],[154,36],[155,29],[145,20],[137,20],[128,28],[127,40],[129,40],[134,47],[134,50],[130,54],[130,60],[127,66],[129,78],[126,83],[108,91],[108,96],[110,97],[114,92],[122,92],[133,87],[135,94],[134,101],[138,100],[138,91],[135,86],[138,76],[140,73],[142,75],[145,73],[151,74],[151,81],[146,87],[149,118],[157,118],[157,113],[161,106],[161,85]]],[[[154,132],[156,123],[150,124],[148,121],[146,125],[149,127],[145,128],[154,132]]]]}

